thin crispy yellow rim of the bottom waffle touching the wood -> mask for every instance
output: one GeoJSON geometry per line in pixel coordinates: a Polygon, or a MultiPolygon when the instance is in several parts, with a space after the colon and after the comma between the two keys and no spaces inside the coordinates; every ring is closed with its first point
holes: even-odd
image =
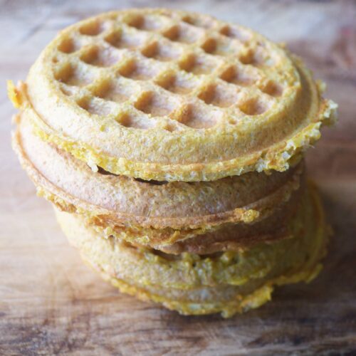
{"type": "MultiPolygon", "coordinates": [[[[224,300],[224,302],[217,301],[216,303],[189,303],[187,300],[172,300],[164,297],[162,294],[152,293],[150,290],[135,286],[134,283],[127,283],[127,281],[115,278],[115,276],[104,271],[101,266],[88,261],[88,258],[86,258],[83,253],[81,253],[81,256],[88,266],[100,273],[103,279],[112,283],[112,286],[118,288],[121,293],[133,295],[145,302],[151,301],[164,305],[164,307],[169,310],[175,310],[182,315],[221,313],[223,318],[231,318],[236,313],[241,314],[248,310],[258,308],[271,300],[271,295],[275,286],[283,286],[299,282],[309,283],[318,276],[320,271],[322,271],[323,264],[320,263],[320,260],[324,258],[327,253],[326,246],[330,236],[330,229],[328,229],[328,226],[325,224],[323,207],[321,206],[320,198],[318,197],[318,192],[316,192],[314,184],[309,185],[309,191],[312,197],[311,204],[313,204],[313,210],[315,211],[312,229],[314,229],[313,232],[315,239],[318,239],[318,244],[312,253],[310,253],[310,258],[306,261],[304,267],[299,271],[291,271],[282,276],[272,278],[270,281],[266,281],[263,286],[260,286],[247,295],[236,294],[234,298],[227,302],[224,300]]],[[[187,292],[189,293],[189,290],[187,292]]]]}

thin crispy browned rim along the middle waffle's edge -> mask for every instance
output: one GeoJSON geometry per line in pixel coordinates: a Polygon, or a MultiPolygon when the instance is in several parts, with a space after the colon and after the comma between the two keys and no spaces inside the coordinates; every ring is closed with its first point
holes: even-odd
{"type": "MultiPolygon", "coordinates": [[[[21,125],[21,118],[17,118],[21,125]]],[[[130,216],[128,214],[119,214],[117,211],[110,211],[103,207],[93,205],[56,187],[48,181],[43,174],[36,169],[28,159],[26,152],[21,146],[21,135],[19,127],[13,134],[12,145],[16,154],[19,156],[22,167],[28,173],[33,183],[38,189],[38,195],[45,197],[48,201],[56,204],[63,211],[76,212],[84,214],[88,220],[103,226],[108,224],[107,234],[115,234],[115,224],[132,226],[136,231],[141,231],[142,237],[138,237],[137,243],[147,244],[150,242],[150,236],[161,236],[161,243],[172,244],[174,241],[187,239],[199,234],[219,229],[224,224],[247,223],[263,219],[271,214],[271,209],[280,206],[290,199],[291,194],[300,187],[301,175],[303,175],[303,164],[296,168],[294,174],[281,187],[273,191],[267,197],[262,197],[247,206],[239,207],[231,211],[224,211],[218,214],[204,216],[187,216],[181,218],[159,218],[147,216],[130,216]]],[[[89,171],[90,172],[90,171],[89,171]]],[[[93,174],[96,174],[93,172],[93,174]]],[[[130,184],[130,182],[128,182],[130,184]]],[[[127,187],[128,189],[130,186],[127,187]]],[[[157,239],[157,241],[159,241],[157,239]]]]}

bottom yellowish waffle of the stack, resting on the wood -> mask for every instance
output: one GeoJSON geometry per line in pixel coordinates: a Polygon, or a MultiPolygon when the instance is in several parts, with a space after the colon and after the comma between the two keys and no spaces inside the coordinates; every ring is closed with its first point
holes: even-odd
{"type": "Polygon", "coordinates": [[[290,239],[213,256],[135,248],[104,239],[80,215],[56,214],[70,243],[122,292],[184,314],[231,316],[256,308],[270,300],[273,286],[314,278],[325,254],[323,210],[311,187],[291,223],[290,239]]]}

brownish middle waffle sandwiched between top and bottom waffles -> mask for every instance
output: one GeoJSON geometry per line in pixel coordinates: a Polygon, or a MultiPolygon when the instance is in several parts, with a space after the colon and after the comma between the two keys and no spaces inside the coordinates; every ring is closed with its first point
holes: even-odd
{"type": "Polygon", "coordinates": [[[100,234],[168,253],[236,250],[290,236],[286,224],[303,192],[303,163],[268,175],[152,184],[93,172],[33,135],[24,114],[17,121],[13,146],[38,193],[83,214],[100,234]]]}

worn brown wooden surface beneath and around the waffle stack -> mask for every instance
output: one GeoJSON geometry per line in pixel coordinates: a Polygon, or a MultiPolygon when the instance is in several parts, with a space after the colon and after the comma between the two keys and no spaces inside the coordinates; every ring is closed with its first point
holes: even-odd
{"type": "Polygon", "coordinates": [[[356,352],[355,1],[0,0],[0,354],[333,355],[356,352]],[[116,5],[115,5],[116,4],[116,5]],[[176,6],[251,26],[305,58],[340,122],[308,152],[335,230],[325,270],[230,320],[182,317],[120,295],[81,263],[10,147],[4,80],[25,78],[64,26],[115,6],[176,6]]]}

